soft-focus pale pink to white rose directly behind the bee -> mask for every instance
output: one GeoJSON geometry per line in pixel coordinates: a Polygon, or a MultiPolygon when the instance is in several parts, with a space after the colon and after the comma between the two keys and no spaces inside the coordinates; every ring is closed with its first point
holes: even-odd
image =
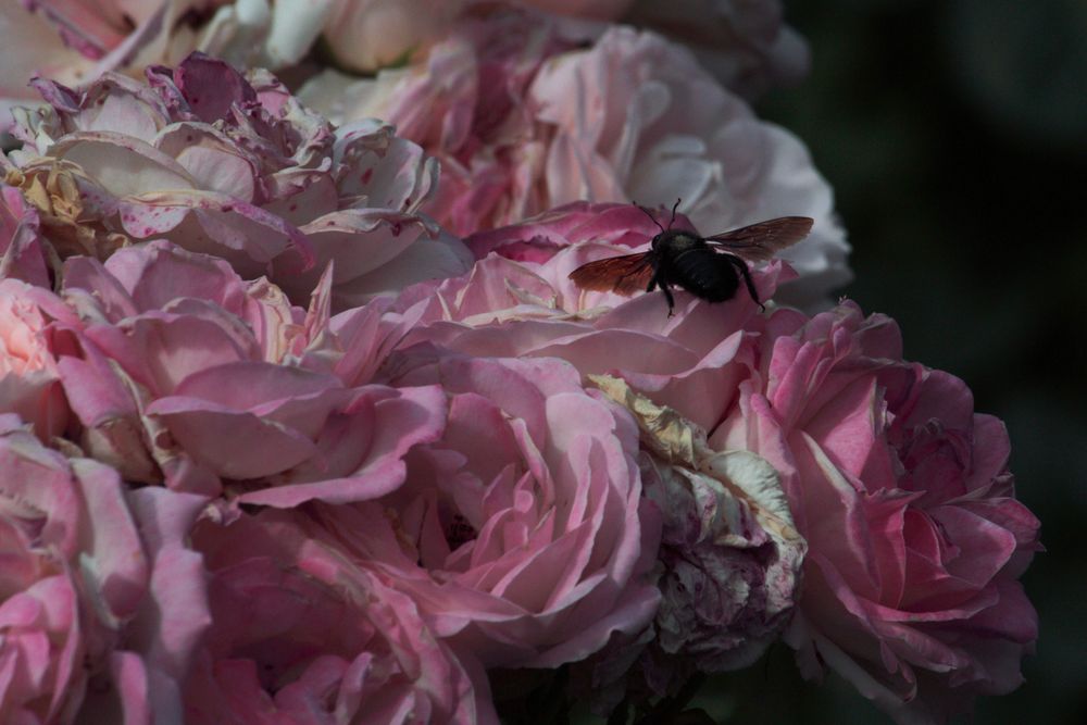
{"type": "Polygon", "coordinates": [[[807,149],[760,122],[684,48],[614,28],[591,49],[549,61],[528,96],[538,118],[554,127],[548,205],[588,198],[671,208],[678,198],[703,234],[810,216],[811,236],[780,255],[800,275],[790,301],[816,304],[850,278],[830,188],[807,149]]]}

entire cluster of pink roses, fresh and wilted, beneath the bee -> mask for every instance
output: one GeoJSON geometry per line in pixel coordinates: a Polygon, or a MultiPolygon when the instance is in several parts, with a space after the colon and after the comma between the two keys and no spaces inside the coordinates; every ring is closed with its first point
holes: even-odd
{"type": "Polygon", "coordinates": [[[1007,433],[828,302],[740,96],[777,3],[680,4],[697,55],[642,2],[0,10],[0,721],[652,722],[778,640],[901,723],[1020,684],[1007,433]],[[783,214],[755,295],[570,277],[783,214]]]}

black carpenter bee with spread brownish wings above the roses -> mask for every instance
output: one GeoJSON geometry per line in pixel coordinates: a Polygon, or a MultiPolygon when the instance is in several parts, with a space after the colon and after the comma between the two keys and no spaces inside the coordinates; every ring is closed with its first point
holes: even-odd
{"type": "Polygon", "coordinates": [[[694,232],[672,228],[678,207],[677,199],[666,229],[651,211],[638,207],[661,230],[653,237],[649,251],[583,264],[570,273],[570,278],[583,289],[620,295],[634,295],[641,289],[651,292],[660,287],[669,302],[670,317],[675,308],[671,290],[674,285],[709,302],[724,302],[733,298],[742,278],[751,299],[761,305],[747,263],[770,260],[807,237],[812,228],[812,220],[807,216],[779,216],[700,237],[694,232]]]}

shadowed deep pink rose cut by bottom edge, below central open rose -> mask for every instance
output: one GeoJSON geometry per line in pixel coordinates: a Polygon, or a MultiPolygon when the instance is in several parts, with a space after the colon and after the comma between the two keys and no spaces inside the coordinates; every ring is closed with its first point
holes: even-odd
{"type": "Polygon", "coordinates": [[[483,671],[417,605],[265,511],[193,532],[213,624],[184,686],[188,723],[497,723],[483,671]]]}

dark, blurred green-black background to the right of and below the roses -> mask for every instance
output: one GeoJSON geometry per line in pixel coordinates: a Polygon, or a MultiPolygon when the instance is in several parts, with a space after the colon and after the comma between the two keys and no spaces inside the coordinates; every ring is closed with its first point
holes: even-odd
{"type": "MultiPolygon", "coordinates": [[[[1087,1],[821,0],[786,14],[812,73],[757,110],[835,188],[857,274],[844,292],[1004,420],[1019,496],[1042,522],[1048,551],[1023,578],[1037,654],[973,722],[1087,723],[1087,1]]],[[[780,647],[720,686],[730,724],[889,722],[840,680],[802,684],[780,647]]]]}

